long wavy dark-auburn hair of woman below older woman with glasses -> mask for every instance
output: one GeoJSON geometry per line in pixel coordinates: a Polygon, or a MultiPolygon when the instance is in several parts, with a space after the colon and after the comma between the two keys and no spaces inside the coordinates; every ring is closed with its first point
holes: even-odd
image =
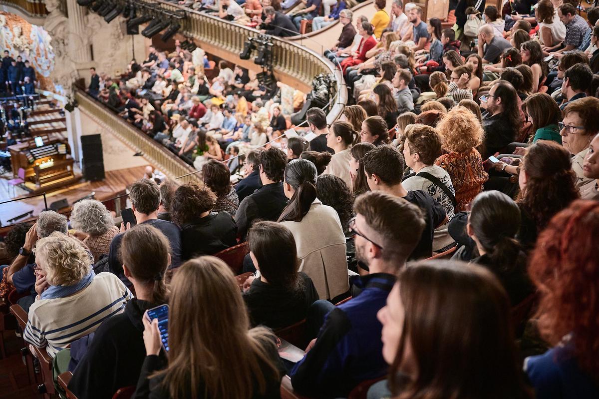
{"type": "Polygon", "coordinates": [[[537,231],[541,231],[553,215],[580,198],[574,185],[576,174],[570,153],[553,141],[537,141],[528,147],[522,162],[527,183],[516,202],[533,217],[537,231]]]}

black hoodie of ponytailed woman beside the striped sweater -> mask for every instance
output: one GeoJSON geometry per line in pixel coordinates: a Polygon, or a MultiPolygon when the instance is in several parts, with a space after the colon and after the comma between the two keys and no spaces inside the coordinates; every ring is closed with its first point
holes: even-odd
{"type": "Polygon", "coordinates": [[[105,399],[119,388],[135,385],[146,358],[141,318],[156,306],[133,298],[125,312],[102,322],[73,373],[69,391],[80,399],[105,399]]]}

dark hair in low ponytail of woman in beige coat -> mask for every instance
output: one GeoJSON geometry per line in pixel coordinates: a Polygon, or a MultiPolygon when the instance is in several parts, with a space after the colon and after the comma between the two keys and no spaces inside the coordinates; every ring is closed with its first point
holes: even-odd
{"type": "Polygon", "coordinates": [[[301,222],[316,199],[316,166],[307,159],[293,159],[285,168],[285,183],[294,188],[294,195],[289,200],[277,222],[293,220],[301,222]]]}

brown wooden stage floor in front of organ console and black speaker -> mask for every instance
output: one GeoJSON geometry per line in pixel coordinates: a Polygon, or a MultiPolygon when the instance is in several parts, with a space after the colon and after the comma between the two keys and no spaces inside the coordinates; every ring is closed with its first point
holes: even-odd
{"type": "MultiPolygon", "coordinates": [[[[104,180],[99,182],[86,182],[81,179],[80,182],[74,183],[72,185],[68,185],[57,189],[52,192],[46,193],[46,200],[48,202],[48,207],[50,204],[55,201],[66,199],[69,203],[69,208],[71,207],[74,201],[77,201],[80,198],[85,197],[86,195],[95,192],[95,198],[98,201],[109,200],[110,198],[114,198],[119,193],[123,192],[125,188],[135,181],[141,179],[144,176],[144,168],[145,166],[128,168],[128,169],[120,169],[107,171],[106,177],[104,180]]],[[[12,189],[11,189],[12,190],[12,189]]],[[[22,189],[17,189],[17,193],[24,194],[22,189]]],[[[21,197],[27,197],[28,195],[22,195],[21,197]]],[[[8,183],[5,179],[0,179],[0,202],[10,200],[10,196],[8,194],[8,183]]],[[[23,209],[22,213],[25,213],[28,210],[33,211],[33,216],[37,216],[41,211],[44,210],[44,198],[43,197],[35,197],[28,198],[22,201],[9,202],[8,204],[0,204],[0,219],[6,220],[10,219],[10,217],[5,217],[8,213],[14,213],[17,210],[14,207],[19,207],[19,209],[23,209]]],[[[22,214],[18,213],[18,214],[22,214]]],[[[27,220],[22,219],[19,222],[23,222],[27,220]]]]}

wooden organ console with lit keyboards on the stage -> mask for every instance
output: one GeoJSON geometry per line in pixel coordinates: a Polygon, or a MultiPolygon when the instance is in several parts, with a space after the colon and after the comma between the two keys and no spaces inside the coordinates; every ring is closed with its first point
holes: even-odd
{"type": "Polygon", "coordinates": [[[70,181],[75,177],[73,159],[67,155],[68,145],[58,140],[42,146],[24,142],[9,146],[13,174],[25,169],[25,182],[38,188],[70,181]]]}

